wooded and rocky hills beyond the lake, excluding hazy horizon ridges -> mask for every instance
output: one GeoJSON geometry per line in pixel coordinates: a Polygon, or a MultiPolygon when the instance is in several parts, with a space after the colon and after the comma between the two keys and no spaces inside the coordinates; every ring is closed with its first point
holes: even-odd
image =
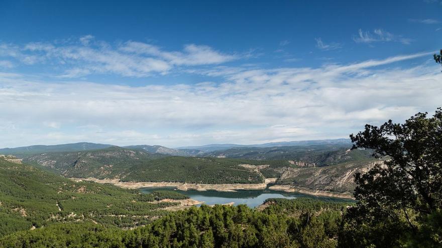
{"type": "MultiPolygon", "coordinates": [[[[243,152],[244,149],[252,148],[228,151],[243,152]]],[[[367,171],[379,161],[371,157],[368,150],[346,150],[326,145],[259,148],[259,152],[241,155],[243,159],[201,158],[111,147],[84,152],[45,153],[23,161],[74,178],[200,184],[262,183],[265,178],[276,178],[276,185],[272,186],[276,190],[302,188],[307,190],[306,193],[320,190],[345,193],[346,196],[350,196],[355,187],[354,174],[367,171]],[[281,159],[245,159],[257,158],[261,156],[259,152],[265,157],[281,159]]],[[[236,156],[238,153],[230,154],[236,156]]]]}

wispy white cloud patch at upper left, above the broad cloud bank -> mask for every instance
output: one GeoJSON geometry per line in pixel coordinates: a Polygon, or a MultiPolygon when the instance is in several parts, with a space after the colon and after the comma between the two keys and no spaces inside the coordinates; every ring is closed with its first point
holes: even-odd
{"type": "Polygon", "coordinates": [[[29,43],[24,46],[0,44],[0,58],[12,58],[26,65],[46,63],[64,70],[63,78],[89,74],[116,74],[146,77],[165,74],[184,66],[222,64],[237,60],[235,54],[224,54],[208,46],[185,45],[182,51],[165,51],[157,46],[126,42],[111,46],[84,36],[79,43],[29,43]],[[94,42],[92,42],[94,41],[94,42]]]}

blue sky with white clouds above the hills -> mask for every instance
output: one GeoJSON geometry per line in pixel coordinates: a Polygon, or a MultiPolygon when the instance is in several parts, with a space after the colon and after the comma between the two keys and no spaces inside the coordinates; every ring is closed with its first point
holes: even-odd
{"type": "Polygon", "coordinates": [[[0,148],[348,138],[442,106],[442,2],[0,2],[0,148]]]}

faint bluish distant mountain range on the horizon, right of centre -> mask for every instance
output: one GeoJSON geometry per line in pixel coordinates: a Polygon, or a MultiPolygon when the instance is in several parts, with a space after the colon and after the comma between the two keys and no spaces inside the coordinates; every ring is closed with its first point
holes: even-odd
{"type": "Polygon", "coordinates": [[[347,145],[352,146],[350,139],[321,139],[321,140],[301,140],[287,142],[270,142],[264,144],[238,145],[238,144],[210,144],[202,146],[184,146],[176,149],[196,149],[203,152],[223,151],[239,147],[277,147],[277,146],[310,146],[310,145],[347,145]]]}

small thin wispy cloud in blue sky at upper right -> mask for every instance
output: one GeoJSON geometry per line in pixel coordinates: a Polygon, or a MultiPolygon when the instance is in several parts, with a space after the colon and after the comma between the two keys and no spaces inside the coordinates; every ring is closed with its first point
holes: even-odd
{"type": "Polygon", "coordinates": [[[375,42],[400,42],[402,44],[410,44],[413,40],[396,36],[382,29],[375,29],[373,33],[370,31],[363,32],[359,30],[358,36],[354,36],[356,43],[375,43],[375,42]]]}

